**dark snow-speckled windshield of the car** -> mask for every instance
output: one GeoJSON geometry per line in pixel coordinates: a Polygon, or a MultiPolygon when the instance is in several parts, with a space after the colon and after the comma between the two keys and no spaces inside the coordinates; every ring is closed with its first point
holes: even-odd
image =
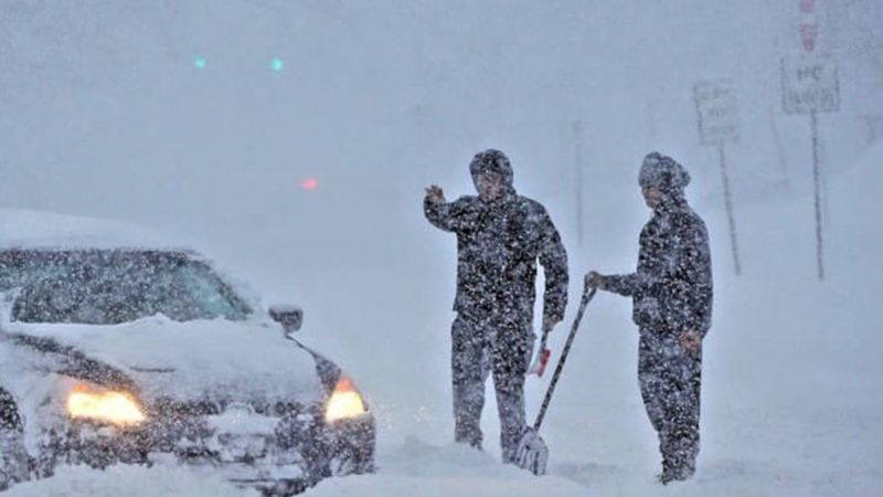
{"type": "Polygon", "coordinates": [[[13,321],[115,325],[163,314],[178,321],[244,319],[248,306],[204,263],[162,251],[8,251],[0,293],[13,321]]]}

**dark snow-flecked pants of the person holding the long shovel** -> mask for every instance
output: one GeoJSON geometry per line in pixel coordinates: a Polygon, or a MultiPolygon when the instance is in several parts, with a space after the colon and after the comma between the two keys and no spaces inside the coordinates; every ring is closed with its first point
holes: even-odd
{"type": "Polygon", "coordinates": [[[663,468],[691,475],[699,456],[701,352],[683,350],[677,336],[641,329],[638,380],[663,468]]]}

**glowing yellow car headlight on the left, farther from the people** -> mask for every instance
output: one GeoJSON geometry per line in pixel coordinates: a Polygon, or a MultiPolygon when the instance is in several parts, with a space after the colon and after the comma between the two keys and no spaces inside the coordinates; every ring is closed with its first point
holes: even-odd
{"type": "Polygon", "coordinates": [[[67,414],[77,420],[132,425],[145,421],[141,406],[127,392],[98,390],[79,384],[67,395],[67,414]]]}

